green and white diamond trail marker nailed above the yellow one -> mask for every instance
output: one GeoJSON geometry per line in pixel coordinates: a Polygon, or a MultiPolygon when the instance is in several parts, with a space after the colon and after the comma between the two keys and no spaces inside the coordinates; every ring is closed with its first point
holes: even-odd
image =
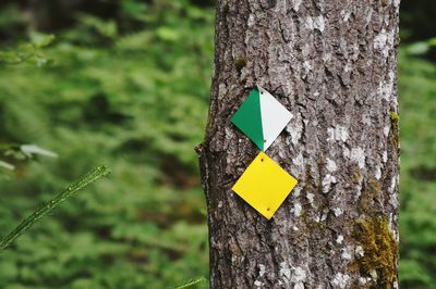
{"type": "Polygon", "coordinates": [[[280,135],[292,114],[268,91],[258,86],[242,103],[230,120],[262,151],[280,135]]]}

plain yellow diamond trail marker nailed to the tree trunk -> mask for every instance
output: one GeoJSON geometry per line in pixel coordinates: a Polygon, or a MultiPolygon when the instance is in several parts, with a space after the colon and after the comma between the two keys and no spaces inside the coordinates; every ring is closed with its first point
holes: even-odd
{"type": "Polygon", "coordinates": [[[261,152],[232,190],[270,219],[295,185],[296,179],[261,152]]]}

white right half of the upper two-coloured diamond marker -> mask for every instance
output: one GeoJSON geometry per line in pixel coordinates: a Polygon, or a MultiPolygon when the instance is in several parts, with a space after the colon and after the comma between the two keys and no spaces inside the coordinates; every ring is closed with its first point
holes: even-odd
{"type": "Polygon", "coordinates": [[[264,88],[259,87],[264,151],[276,140],[292,118],[292,114],[264,88]]]}

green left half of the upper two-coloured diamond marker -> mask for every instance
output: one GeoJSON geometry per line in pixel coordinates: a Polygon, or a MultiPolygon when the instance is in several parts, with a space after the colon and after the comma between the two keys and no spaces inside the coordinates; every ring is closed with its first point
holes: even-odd
{"type": "Polygon", "coordinates": [[[262,128],[259,91],[253,89],[230,120],[262,151],[264,150],[264,133],[262,128]]]}

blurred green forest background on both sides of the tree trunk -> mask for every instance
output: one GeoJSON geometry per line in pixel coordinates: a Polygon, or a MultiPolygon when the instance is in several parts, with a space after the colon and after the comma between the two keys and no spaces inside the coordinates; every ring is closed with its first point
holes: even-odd
{"type": "MultiPolygon", "coordinates": [[[[400,277],[402,288],[434,288],[436,2],[403,2],[400,277]]],[[[1,1],[0,236],[94,165],[113,174],[0,254],[0,288],[207,277],[193,148],[207,118],[214,12],[211,0],[1,1]]]]}

